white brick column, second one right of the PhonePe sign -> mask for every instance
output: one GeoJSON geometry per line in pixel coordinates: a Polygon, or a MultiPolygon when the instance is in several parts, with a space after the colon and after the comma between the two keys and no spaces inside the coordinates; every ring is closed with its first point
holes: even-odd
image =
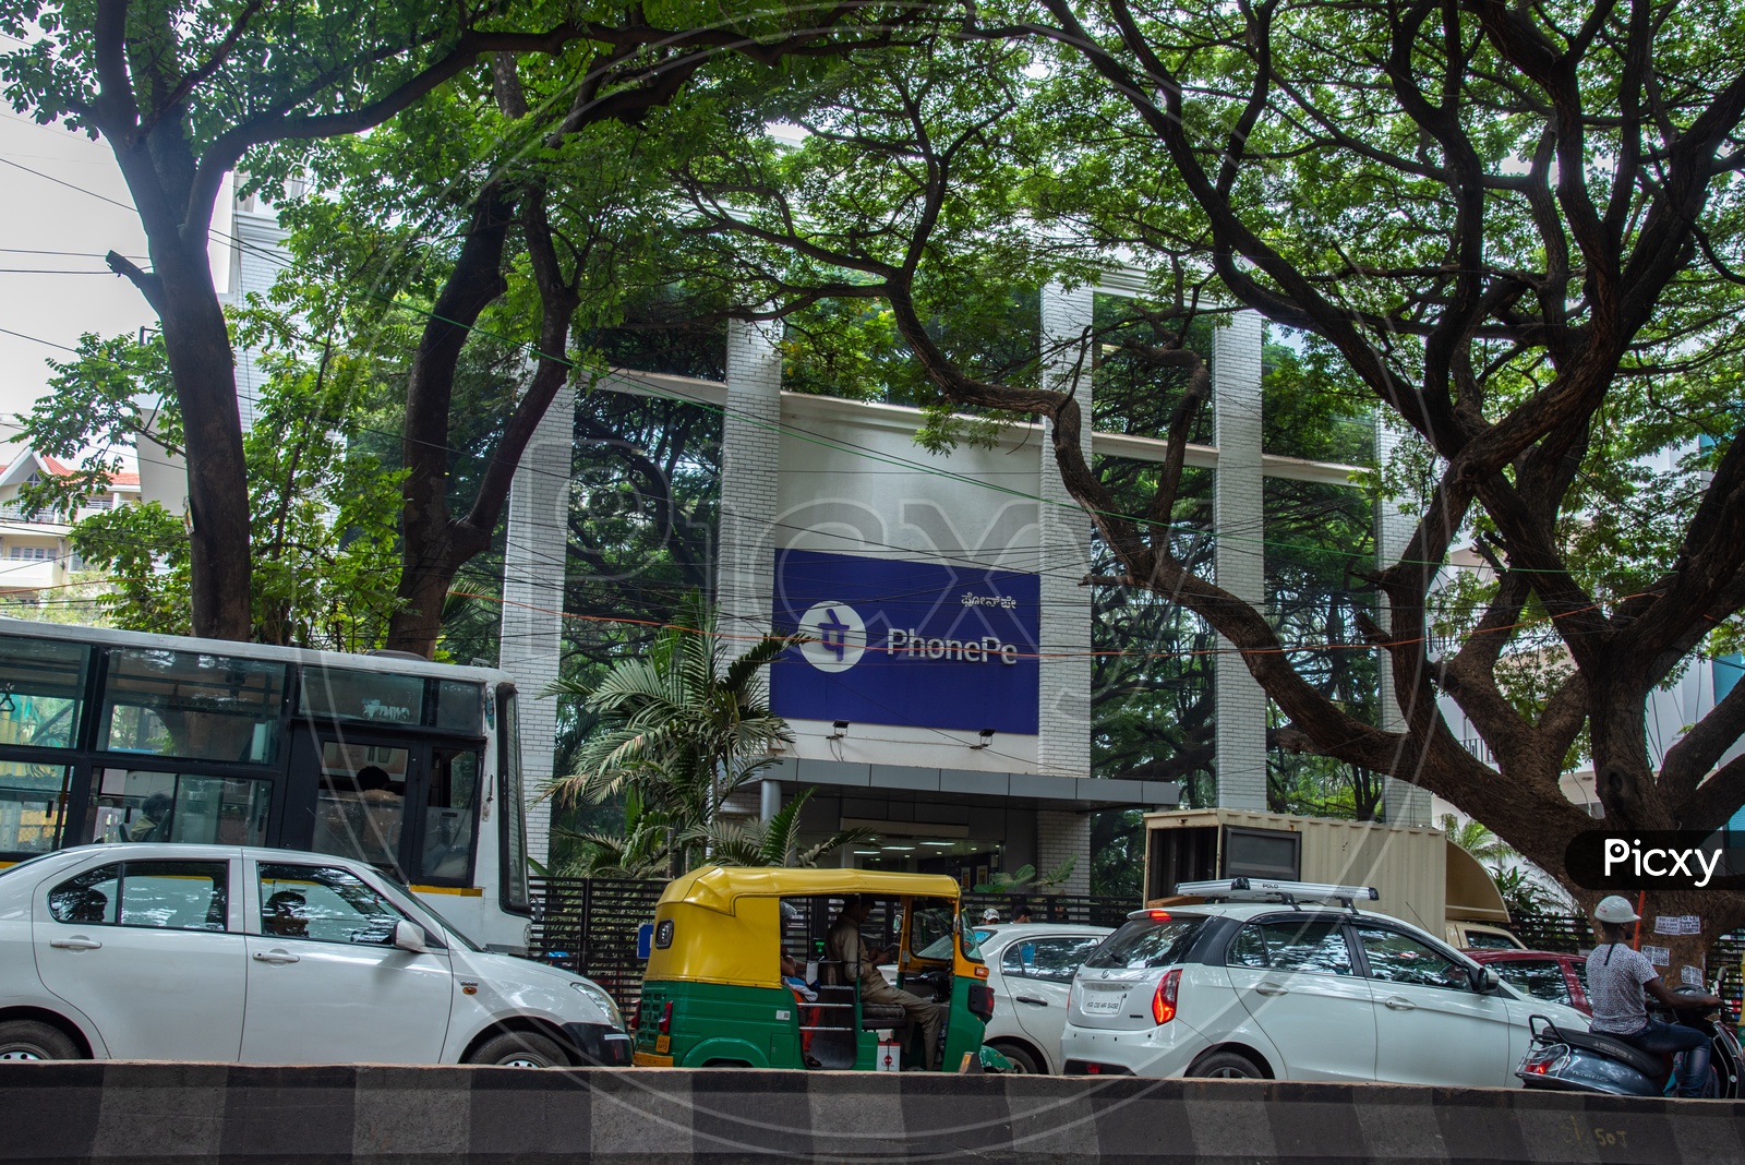
{"type": "MultiPolygon", "coordinates": [[[[1213,335],[1211,394],[1218,476],[1213,492],[1218,586],[1265,602],[1265,490],[1260,473],[1260,314],[1235,312],[1213,335]]],[[[1218,806],[1267,807],[1267,696],[1232,644],[1213,666],[1218,806]]]]}

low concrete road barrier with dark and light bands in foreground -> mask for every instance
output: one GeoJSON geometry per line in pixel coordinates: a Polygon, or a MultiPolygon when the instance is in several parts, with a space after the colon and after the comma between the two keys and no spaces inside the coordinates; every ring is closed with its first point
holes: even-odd
{"type": "Polygon", "coordinates": [[[1394,1085],[0,1064],[0,1162],[1745,1162],[1745,1104],[1394,1085]]]}

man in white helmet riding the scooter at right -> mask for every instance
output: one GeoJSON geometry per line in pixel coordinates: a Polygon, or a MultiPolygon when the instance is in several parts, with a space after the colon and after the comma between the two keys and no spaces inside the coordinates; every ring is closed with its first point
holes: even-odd
{"type": "Polygon", "coordinates": [[[1651,1055],[1687,1052],[1679,1066],[1679,1095],[1700,1097],[1708,1083],[1708,1036],[1684,1024],[1647,1017],[1642,992],[1672,1008],[1712,1008],[1721,999],[1708,994],[1675,994],[1640,950],[1628,945],[1628,924],[1640,921],[1630,902],[1612,895],[1593,912],[1595,930],[1605,942],[1588,956],[1588,1001],[1593,1031],[1621,1039],[1651,1055]]]}

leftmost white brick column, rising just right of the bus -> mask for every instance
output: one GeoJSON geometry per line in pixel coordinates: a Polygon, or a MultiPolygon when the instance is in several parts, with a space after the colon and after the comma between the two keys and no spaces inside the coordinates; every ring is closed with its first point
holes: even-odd
{"type": "Polygon", "coordinates": [[[515,677],[522,719],[522,783],[527,853],[551,855],[551,802],[536,801],[551,781],[557,699],[544,694],[564,659],[564,579],[569,532],[576,394],[565,384],[539,420],[510,487],[503,548],[503,647],[499,666],[515,677]]]}

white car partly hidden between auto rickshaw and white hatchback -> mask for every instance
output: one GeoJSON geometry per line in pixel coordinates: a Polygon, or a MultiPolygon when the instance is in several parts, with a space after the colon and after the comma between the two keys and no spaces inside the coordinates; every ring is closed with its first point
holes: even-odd
{"type": "Polygon", "coordinates": [[[1073,973],[1110,933],[1108,926],[1071,923],[977,928],[995,998],[982,1043],[1021,1073],[1059,1073],[1073,973]]]}

